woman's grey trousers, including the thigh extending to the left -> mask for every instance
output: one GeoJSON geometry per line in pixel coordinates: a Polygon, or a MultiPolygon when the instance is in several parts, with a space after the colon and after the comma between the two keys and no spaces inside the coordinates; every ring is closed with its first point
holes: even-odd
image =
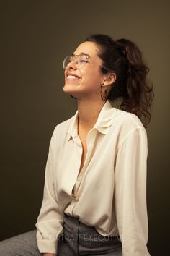
{"type": "MultiPolygon", "coordinates": [[[[36,230],[0,242],[0,256],[41,256],[36,230]]],[[[102,236],[79,218],[64,216],[63,234],[58,238],[58,256],[122,256],[119,236],[102,236]]]]}

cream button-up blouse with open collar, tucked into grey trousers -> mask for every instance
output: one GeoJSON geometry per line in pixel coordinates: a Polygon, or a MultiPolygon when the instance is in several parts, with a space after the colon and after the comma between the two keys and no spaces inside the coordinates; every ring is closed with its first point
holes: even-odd
{"type": "Polygon", "coordinates": [[[77,132],[79,113],[55,127],[37,218],[41,253],[57,252],[63,213],[95,226],[103,236],[119,234],[123,256],[148,256],[146,205],[147,134],[135,114],[107,101],[86,137],[87,154],[77,132]]]}

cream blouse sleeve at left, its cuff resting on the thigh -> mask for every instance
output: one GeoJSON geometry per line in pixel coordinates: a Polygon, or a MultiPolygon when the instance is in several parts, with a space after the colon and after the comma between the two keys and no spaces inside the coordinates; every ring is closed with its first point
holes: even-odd
{"type": "MultiPolygon", "coordinates": [[[[54,135],[54,134],[53,134],[54,135]]],[[[63,214],[55,196],[55,161],[57,152],[52,136],[45,168],[45,185],[42,206],[37,218],[37,245],[41,253],[56,253],[58,235],[63,231],[63,214]]]]}

